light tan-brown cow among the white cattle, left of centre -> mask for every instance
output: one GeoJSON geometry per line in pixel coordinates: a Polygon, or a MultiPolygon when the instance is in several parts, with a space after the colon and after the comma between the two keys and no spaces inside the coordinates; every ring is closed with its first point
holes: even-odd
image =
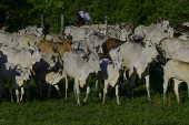
{"type": "Polygon", "coordinates": [[[42,52],[53,52],[54,49],[60,53],[62,60],[63,60],[63,53],[69,52],[72,50],[71,46],[72,42],[62,40],[62,42],[51,42],[48,40],[41,40],[38,44],[37,48],[41,49],[42,52]]]}

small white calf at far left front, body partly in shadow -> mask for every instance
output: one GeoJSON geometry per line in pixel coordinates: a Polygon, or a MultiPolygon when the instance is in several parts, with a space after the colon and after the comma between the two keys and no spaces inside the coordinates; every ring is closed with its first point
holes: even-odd
{"type": "Polygon", "coordinates": [[[4,63],[1,66],[0,72],[0,83],[1,83],[1,92],[0,92],[0,98],[2,97],[2,90],[4,88],[4,81],[9,82],[9,93],[11,96],[11,102],[13,103],[13,96],[12,96],[12,83],[16,88],[16,95],[17,95],[17,103],[19,101],[22,101],[23,97],[23,81],[27,81],[30,79],[30,70],[22,67],[20,64],[14,65],[12,63],[4,63]],[[21,97],[19,100],[19,91],[18,88],[21,87],[21,97]]]}

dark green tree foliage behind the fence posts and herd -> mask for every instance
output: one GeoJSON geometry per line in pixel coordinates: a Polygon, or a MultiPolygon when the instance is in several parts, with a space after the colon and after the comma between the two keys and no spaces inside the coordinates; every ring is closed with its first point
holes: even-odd
{"type": "Polygon", "coordinates": [[[187,0],[2,0],[0,2],[0,27],[6,24],[6,12],[9,11],[11,31],[21,29],[22,23],[41,24],[44,15],[44,28],[48,32],[60,31],[60,15],[64,15],[64,25],[73,24],[73,18],[83,7],[93,23],[130,21],[135,27],[149,25],[157,20],[169,20],[171,25],[189,20],[189,2],[187,0]]]}

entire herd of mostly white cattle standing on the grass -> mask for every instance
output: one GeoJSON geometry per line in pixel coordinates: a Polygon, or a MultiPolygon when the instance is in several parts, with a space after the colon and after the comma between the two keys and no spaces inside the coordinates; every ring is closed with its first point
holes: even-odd
{"type": "Polygon", "coordinates": [[[4,84],[9,83],[11,102],[12,83],[16,88],[17,102],[22,101],[23,83],[27,81],[29,98],[30,80],[33,79],[37,93],[42,95],[41,86],[48,83],[48,97],[51,85],[59,96],[58,83],[66,80],[66,101],[68,77],[74,79],[73,92],[77,105],[80,105],[79,86],[87,86],[87,101],[90,93],[90,79],[96,79],[96,90],[103,83],[103,98],[108,85],[116,86],[117,104],[119,85],[127,81],[128,95],[133,97],[136,75],[145,77],[148,100],[150,101],[149,67],[159,62],[163,67],[163,101],[168,81],[173,79],[177,101],[178,87],[181,82],[189,84],[189,22],[171,28],[168,20],[149,27],[133,27],[130,22],[117,25],[68,25],[64,35],[49,33],[44,37],[42,28],[29,25],[14,33],[0,29],[0,100],[7,94],[4,84]],[[93,73],[93,75],[92,75],[93,73]],[[119,79],[125,82],[119,83],[119,79]],[[39,83],[40,82],[40,83],[39,83]]]}

